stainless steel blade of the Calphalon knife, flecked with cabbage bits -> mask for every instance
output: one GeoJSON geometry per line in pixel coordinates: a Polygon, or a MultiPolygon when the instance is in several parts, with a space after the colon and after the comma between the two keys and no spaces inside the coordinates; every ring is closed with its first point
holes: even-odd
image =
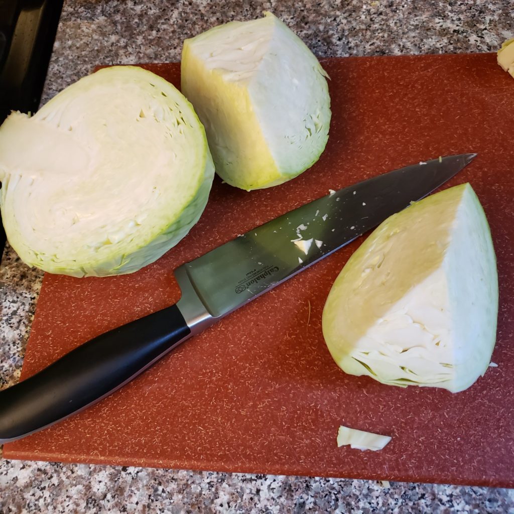
{"type": "Polygon", "coordinates": [[[475,155],[420,162],[331,192],[180,266],[177,278],[187,274],[210,315],[225,316],[428,195],[475,155]]]}

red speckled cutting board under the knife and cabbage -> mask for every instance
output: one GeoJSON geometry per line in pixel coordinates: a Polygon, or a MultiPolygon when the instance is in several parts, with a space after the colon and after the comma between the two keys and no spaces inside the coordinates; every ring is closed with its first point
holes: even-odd
{"type": "MultiPolygon", "coordinates": [[[[5,445],[5,457],[514,487],[514,80],[494,54],[322,64],[332,79],[333,118],[319,162],[285,185],[251,193],[216,179],[190,234],[138,273],[47,274],[22,377],[177,301],[173,269],[237,234],[328,189],[465,152],[479,155],[449,185],[471,182],[491,226],[500,276],[498,368],[458,394],[387,387],[340,371],[323,341],[321,313],[360,238],[96,406],[5,445]],[[342,424],[392,441],[378,452],[338,448],[342,424]]],[[[179,84],[178,64],[145,67],[179,84]]]]}

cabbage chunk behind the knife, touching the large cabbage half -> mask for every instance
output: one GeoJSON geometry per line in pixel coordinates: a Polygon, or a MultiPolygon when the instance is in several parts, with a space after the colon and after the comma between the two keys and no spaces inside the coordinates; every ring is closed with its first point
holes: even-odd
{"type": "Polygon", "coordinates": [[[270,12],[187,39],[182,93],[205,125],[216,172],[232,186],[268,188],[323,152],[331,119],[323,68],[270,12]]]}

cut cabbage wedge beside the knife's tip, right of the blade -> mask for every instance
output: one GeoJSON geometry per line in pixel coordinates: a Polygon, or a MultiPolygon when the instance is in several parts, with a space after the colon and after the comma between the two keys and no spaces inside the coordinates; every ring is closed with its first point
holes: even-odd
{"type": "Polygon", "coordinates": [[[346,373],[458,392],[486,372],[497,317],[489,225],[464,184],[384,221],[337,277],[322,324],[346,373]]]}

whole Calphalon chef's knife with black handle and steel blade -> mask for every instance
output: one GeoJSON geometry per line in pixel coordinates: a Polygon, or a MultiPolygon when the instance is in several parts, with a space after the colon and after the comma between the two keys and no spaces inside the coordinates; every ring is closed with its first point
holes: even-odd
{"type": "Polygon", "coordinates": [[[428,195],[475,155],[419,162],[330,191],[179,266],[175,305],[91,339],[0,391],[0,443],[110,395],[181,342],[428,195]]]}

